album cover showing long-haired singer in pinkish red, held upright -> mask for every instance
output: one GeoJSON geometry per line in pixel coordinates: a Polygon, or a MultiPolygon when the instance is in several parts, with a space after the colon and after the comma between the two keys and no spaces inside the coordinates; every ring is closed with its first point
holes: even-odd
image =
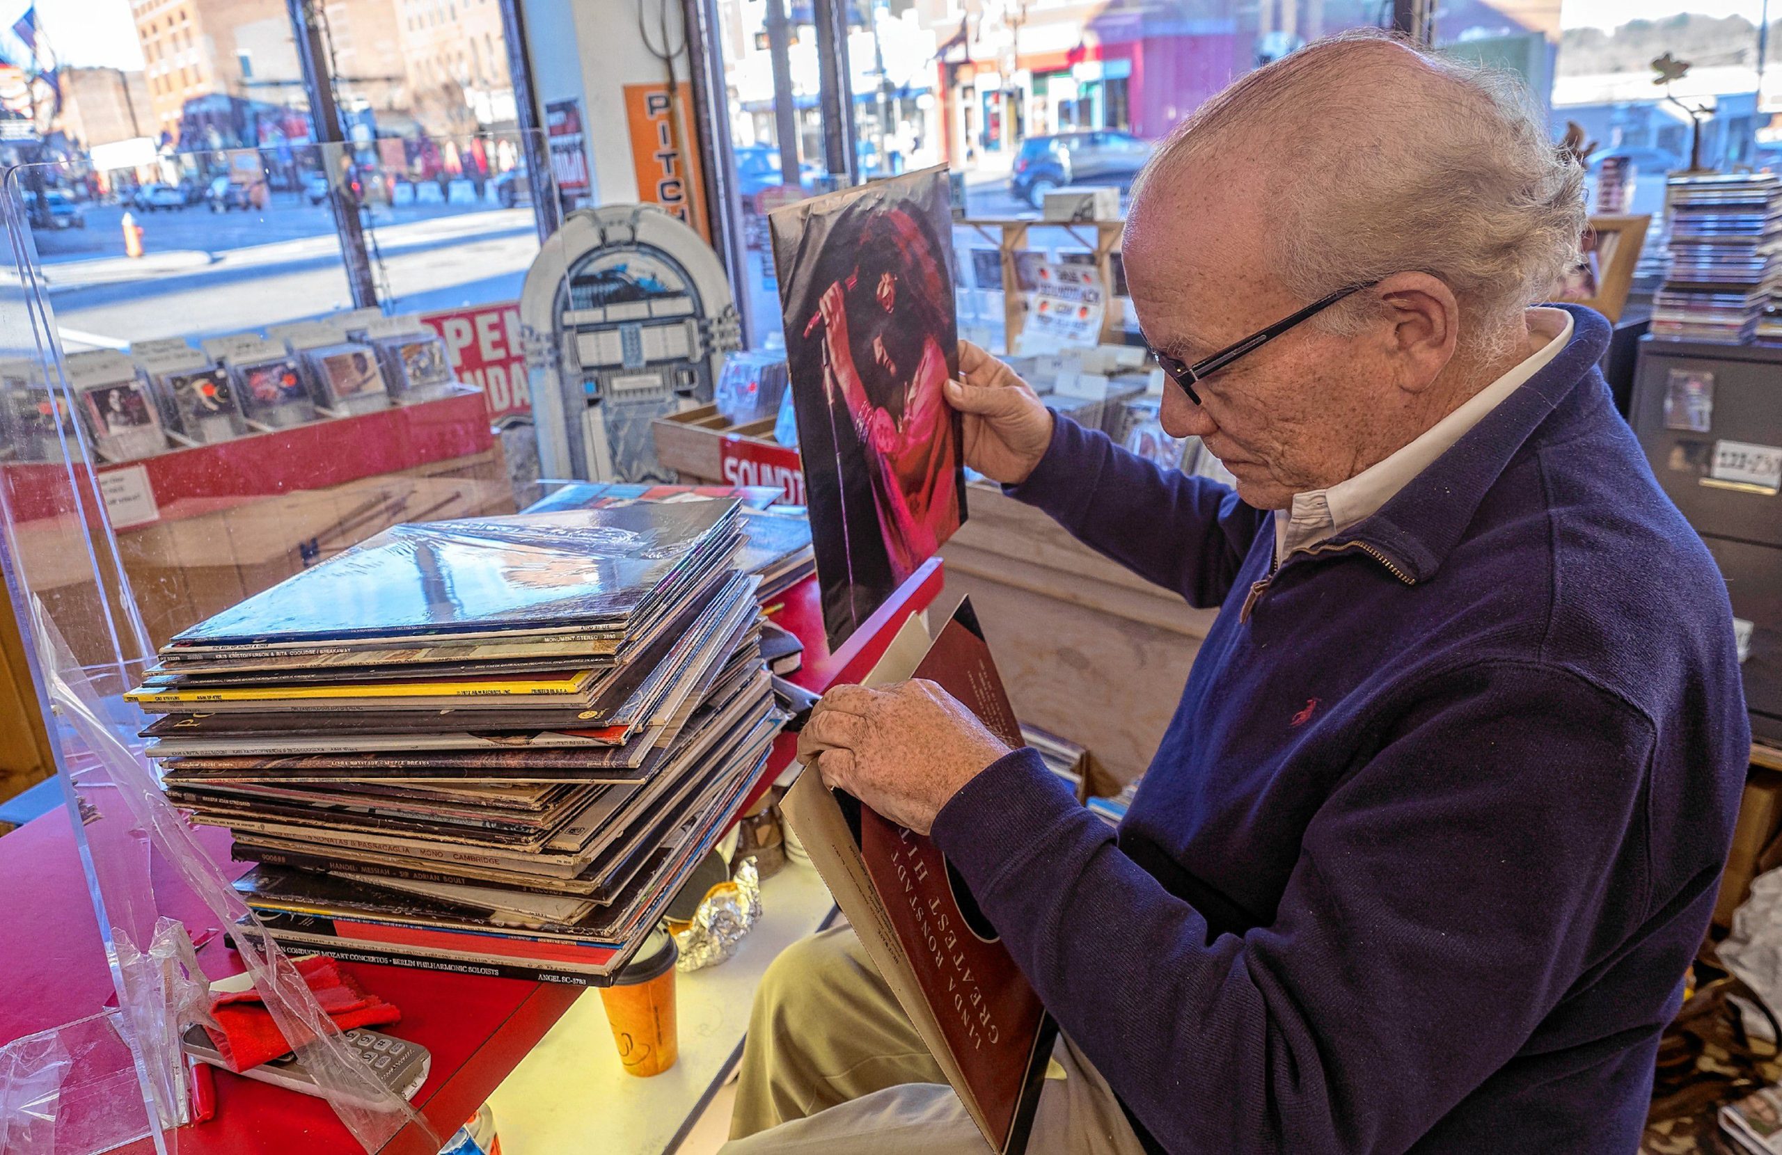
{"type": "Polygon", "coordinates": [[[959,529],[953,223],[936,168],[768,216],[823,626],[839,645],[959,529]]]}

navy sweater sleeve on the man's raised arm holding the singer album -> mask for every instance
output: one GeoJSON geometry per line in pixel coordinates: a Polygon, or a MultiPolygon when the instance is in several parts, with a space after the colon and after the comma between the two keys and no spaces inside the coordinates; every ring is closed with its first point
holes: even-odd
{"type": "Polygon", "coordinates": [[[1046,456],[1005,492],[1198,608],[1224,601],[1269,524],[1269,513],[1238,501],[1231,487],[1164,469],[1057,412],[1046,456]]]}

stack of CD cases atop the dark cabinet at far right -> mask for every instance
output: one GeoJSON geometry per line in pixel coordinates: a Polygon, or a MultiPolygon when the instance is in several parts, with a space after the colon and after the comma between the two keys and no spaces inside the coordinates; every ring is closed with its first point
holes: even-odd
{"type": "Polygon", "coordinates": [[[1752,340],[1782,262],[1782,182],[1771,173],[1670,180],[1670,269],[1652,298],[1652,335],[1752,340]]]}

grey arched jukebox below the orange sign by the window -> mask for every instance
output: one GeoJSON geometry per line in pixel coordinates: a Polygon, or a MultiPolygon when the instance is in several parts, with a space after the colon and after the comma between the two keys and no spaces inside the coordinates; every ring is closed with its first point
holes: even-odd
{"type": "Polygon", "coordinates": [[[656,205],[572,212],[520,292],[545,478],[668,481],[650,422],[711,401],[741,348],[718,255],[656,205]]]}

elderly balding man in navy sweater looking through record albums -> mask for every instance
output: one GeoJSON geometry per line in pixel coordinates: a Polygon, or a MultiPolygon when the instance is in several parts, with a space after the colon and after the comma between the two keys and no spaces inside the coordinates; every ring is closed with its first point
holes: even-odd
{"type": "MultiPolygon", "coordinates": [[[[1513,91],[1340,37],[1201,109],[1126,226],[1164,424],[1237,492],[964,349],[966,460],[1219,606],[1117,836],[928,684],[834,690],[804,733],[934,836],[1059,1020],[1030,1151],[1636,1150],[1748,729],[1609,326],[1529,308],[1582,226],[1513,91]]],[[[732,1148],[982,1150],[936,1084],[820,936],[757,998],[732,1148]]]]}

